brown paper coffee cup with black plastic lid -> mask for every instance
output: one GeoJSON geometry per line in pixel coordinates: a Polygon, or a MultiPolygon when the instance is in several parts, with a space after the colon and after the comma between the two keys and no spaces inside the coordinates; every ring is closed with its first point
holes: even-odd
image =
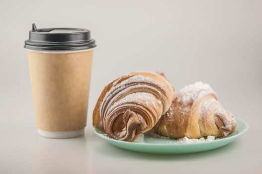
{"type": "Polygon", "coordinates": [[[36,127],[48,138],[84,134],[95,41],[81,28],[37,29],[27,50],[36,127]]]}

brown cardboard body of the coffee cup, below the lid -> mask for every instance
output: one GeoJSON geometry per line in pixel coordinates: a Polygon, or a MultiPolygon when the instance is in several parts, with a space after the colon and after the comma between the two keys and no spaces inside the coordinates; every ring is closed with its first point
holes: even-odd
{"type": "Polygon", "coordinates": [[[87,123],[93,51],[27,51],[36,127],[74,131],[87,123]]]}

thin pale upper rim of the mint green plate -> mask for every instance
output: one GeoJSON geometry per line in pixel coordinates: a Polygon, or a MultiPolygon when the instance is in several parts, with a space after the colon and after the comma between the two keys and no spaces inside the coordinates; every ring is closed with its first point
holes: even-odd
{"type": "MultiPolygon", "coordinates": [[[[173,143],[173,144],[160,144],[160,143],[137,143],[137,142],[128,142],[128,141],[120,141],[120,140],[115,140],[115,139],[112,139],[112,138],[109,138],[107,136],[104,136],[100,133],[98,133],[96,131],[96,127],[93,127],[93,132],[100,138],[102,139],[106,139],[108,141],[112,141],[112,142],[116,142],[116,143],[121,143],[121,144],[126,144],[126,145],[132,145],[132,146],[194,146],[194,145],[200,145],[200,144],[212,144],[212,143],[217,143],[217,142],[221,142],[221,141],[225,141],[225,140],[231,140],[231,139],[235,139],[235,138],[238,138],[239,136],[243,135],[244,133],[247,132],[247,130],[249,129],[249,125],[248,123],[241,119],[241,118],[238,118],[238,117],[235,117],[235,119],[237,120],[240,120],[242,121],[244,124],[245,124],[245,128],[239,132],[238,134],[236,135],[233,135],[231,137],[226,137],[226,138],[223,138],[223,139],[218,139],[218,140],[215,140],[215,141],[208,141],[208,142],[196,142],[196,143],[173,143]]],[[[156,137],[157,138],[157,137],[156,137]]],[[[167,138],[168,139],[168,138],[167,138]]]]}

